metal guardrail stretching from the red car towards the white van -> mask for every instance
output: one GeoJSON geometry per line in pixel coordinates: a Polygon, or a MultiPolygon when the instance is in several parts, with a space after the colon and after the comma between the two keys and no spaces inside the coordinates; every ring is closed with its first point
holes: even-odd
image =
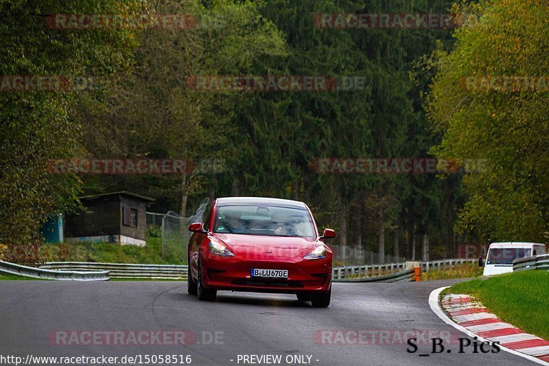
{"type": "MultiPolygon", "coordinates": [[[[460,264],[476,264],[476,259],[447,259],[447,260],[433,260],[430,262],[412,262],[417,263],[421,267],[421,271],[429,272],[433,269],[452,268],[460,264]]],[[[388,263],[388,264],[373,264],[364,266],[342,266],[334,267],[332,269],[331,277],[333,279],[342,279],[351,277],[379,277],[388,273],[395,273],[398,271],[404,271],[406,269],[406,262],[401,263],[388,263]]]]}

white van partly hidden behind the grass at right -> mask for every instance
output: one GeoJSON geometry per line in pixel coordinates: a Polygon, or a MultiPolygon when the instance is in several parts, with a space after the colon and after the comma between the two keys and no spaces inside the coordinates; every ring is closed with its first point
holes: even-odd
{"type": "Polygon", "coordinates": [[[546,254],[545,244],[535,242],[494,242],[490,244],[482,275],[501,275],[513,272],[513,260],[546,254]]]}

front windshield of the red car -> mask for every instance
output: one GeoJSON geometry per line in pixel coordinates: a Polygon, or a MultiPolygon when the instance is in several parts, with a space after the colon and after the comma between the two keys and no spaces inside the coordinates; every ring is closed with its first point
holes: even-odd
{"type": "Polygon", "coordinates": [[[215,233],[262,236],[315,235],[309,211],[293,207],[268,205],[234,205],[219,207],[213,223],[215,233]]]}

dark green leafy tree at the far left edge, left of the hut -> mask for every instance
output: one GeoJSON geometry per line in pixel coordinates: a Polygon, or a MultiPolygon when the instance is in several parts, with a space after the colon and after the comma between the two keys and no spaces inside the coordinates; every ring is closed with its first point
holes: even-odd
{"type": "MultiPolygon", "coordinates": [[[[71,78],[128,65],[132,31],[51,30],[46,19],[58,12],[132,12],[139,3],[0,1],[0,75],[71,78]]],[[[78,152],[80,122],[71,111],[79,98],[70,90],[0,93],[0,240],[5,244],[38,242],[38,225],[49,214],[75,207],[79,179],[52,176],[48,166],[78,152]]]]}

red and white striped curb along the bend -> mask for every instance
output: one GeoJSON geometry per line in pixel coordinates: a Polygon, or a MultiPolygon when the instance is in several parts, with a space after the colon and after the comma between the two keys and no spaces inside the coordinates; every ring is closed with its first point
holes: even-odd
{"type": "Polygon", "coordinates": [[[439,304],[439,295],[445,288],[437,288],[429,296],[429,306],[445,323],[468,336],[476,336],[480,341],[500,342],[502,351],[549,366],[549,341],[504,323],[469,295],[446,295],[443,298],[442,306],[448,317],[439,304]]]}

